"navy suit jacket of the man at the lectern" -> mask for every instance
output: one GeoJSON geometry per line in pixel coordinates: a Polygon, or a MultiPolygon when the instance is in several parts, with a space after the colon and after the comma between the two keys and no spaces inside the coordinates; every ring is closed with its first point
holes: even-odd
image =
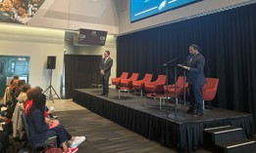
{"type": "Polygon", "coordinates": [[[206,83],[204,76],[205,58],[201,54],[186,57],[182,65],[188,66],[186,71],[187,82],[189,85],[203,86],[206,83]]]}

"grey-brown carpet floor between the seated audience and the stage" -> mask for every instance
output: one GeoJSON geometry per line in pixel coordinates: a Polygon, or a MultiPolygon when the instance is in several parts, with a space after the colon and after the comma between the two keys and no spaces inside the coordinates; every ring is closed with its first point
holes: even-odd
{"type": "MultiPolygon", "coordinates": [[[[135,134],[89,110],[56,112],[61,124],[73,135],[85,135],[78,153],[176,153],[174,149],[135,134]]],[[[197,149],[196,153],[209,153],[197,149]]]]}

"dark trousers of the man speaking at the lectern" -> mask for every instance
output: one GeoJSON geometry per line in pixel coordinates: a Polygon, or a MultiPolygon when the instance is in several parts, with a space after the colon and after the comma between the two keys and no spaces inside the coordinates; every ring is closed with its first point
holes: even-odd
{"type": "Polygon", "coordinates": [[[189,85],[190,104],[189,109],[198,113],[203,113],[203,86],[189,85]]]}

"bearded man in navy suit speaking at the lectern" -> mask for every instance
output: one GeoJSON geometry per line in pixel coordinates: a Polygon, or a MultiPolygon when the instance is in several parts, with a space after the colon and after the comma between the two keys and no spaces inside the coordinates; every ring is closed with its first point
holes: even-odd
{"type": "Polygon", "coordinates": [[[206,83],[204,76],[205,58],[199,53],[200,48],[192,44],[189,46],[189,56],[186,57],[182,64],[182,68],[186,69],[186,77],[188,82],[190,104],[187,113],[194,117],[203,116],[203,96],[202,88],[206,83]]]}

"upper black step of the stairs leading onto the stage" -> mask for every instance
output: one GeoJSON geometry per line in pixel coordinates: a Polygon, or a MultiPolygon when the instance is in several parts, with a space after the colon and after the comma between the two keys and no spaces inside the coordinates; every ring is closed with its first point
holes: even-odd
{"type": "Polygon", "coordinates": [[[232,126],[216,127],[204,130],[204,149],[212,151],[217,144],[244,138],[243,130],[232,126]]]}

